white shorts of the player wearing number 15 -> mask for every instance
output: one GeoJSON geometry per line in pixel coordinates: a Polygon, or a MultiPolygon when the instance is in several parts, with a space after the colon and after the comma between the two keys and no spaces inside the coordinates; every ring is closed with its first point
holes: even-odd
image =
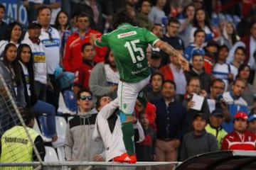
{"type": "Polygon", "coordinates": [[[149,84],[149,79],[150,76],[138,83],[119,81],[117,98],[119,101],[119,109],[122,113],[132,115],[139,91],[141,91],[146,84],[149,84]]]}

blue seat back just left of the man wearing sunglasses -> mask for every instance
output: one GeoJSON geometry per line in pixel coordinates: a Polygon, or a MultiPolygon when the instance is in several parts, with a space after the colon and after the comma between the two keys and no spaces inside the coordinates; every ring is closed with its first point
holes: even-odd
{"type": "Polygon", "coordinates": [[[74,91],[64,91],[63,96],[67,108],[72,112],[76,112],[78,110],[78,105],[74,91]]]}

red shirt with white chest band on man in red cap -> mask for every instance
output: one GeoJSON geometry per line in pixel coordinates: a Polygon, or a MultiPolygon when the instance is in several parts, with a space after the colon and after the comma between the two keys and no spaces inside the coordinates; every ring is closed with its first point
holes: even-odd
{"type": "Polygon", "coordinates": [[[239,137],[235,130],[226,135],[223,139],[222,150],[255,150],[256,136],[254,133],[246,130],[242,137],[239,137]],[[242,139],[241,139],[242,138],[242,139]]]}

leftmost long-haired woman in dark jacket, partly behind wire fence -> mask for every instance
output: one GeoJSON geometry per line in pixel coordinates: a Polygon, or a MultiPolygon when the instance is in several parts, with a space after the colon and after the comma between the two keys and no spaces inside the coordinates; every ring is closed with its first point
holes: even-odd
{"type": "Polygon", "coordinates": [[[12,128],[18,124],[18,117],[14,111],[14,107],[11,102],[4,102],[4,100],[10,99],[7,95],[3,81],[9,88],[12,98],[16,102],[16,106],[20,111],[26,108],[26,100],[24,96],[24,86],[21,80],[21,68],[18,65],[17,47],[13,43],[9,43],[5,46],[3,52],[3,60],[0,62],[0,74],[3,79],[0,81],[0,136],[5,130],[12,128]],[[10,114],[6,114],[10,113],[10,114]]]}

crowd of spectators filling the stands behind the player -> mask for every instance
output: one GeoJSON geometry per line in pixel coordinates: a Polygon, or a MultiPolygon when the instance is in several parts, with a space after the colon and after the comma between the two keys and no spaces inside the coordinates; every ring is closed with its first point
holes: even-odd
{"type": "MultiPolygon", "coordinates": [[[[109,162],[125,152],[114,100],[119,83],[114,56],[90,44],[91,33],[100,38],[112,31],[113,15],[122,8],[190,63],[183,71],[176,57],[151,46],[146,50],[151,79],[134,110],[137,161],[256,149],[255,0],[23,0],[23,5],[27,27],[6,24],[0,4],[0,74],[20,111],[32,107],[36,118],[46,116],[50,140],[43,140],[64,146],[67,161],[109,162]],[[55,116],[65,91],[73,91],[78,108],[63,138],[55,116]]],[[[3,116],[16,115],[0,115],[1,136],[15,125],[3,116]]]]}

